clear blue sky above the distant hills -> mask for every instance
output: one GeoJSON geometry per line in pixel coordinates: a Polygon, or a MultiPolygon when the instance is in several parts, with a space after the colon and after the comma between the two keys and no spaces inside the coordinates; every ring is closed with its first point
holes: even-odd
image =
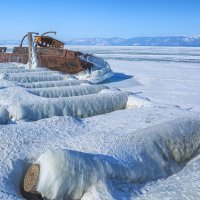
{"type": "Polygon", "coordinates": [[[0,0],[0,40],[200,35],[200,0],[0,0]]]}

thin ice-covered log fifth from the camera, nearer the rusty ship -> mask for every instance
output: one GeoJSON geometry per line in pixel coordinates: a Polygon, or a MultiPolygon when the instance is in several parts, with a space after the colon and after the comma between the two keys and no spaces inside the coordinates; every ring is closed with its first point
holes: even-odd
{"type": "Polygon", "coordinates": [[[30,83],[30,82],[39,82],[39,81],[56,81],[63,80],[63,75],[58,74],[49,74],[49,75],[36,75],[36,74],[27,74],[27,75],[15,75],[15,76],[5,76],[4,79],[9,81],[16,81],[20,83],[30,83]]]}

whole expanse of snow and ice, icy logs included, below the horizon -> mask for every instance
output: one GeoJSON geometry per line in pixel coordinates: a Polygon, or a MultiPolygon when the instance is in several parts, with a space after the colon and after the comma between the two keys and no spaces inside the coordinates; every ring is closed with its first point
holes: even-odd
{"type": "Polygon", "coordinates": [[[200,48],[67,48],[114,75],[0,64],[0,199],[23,199],[32,163],[48,199],[200,199],[200,48]]]}

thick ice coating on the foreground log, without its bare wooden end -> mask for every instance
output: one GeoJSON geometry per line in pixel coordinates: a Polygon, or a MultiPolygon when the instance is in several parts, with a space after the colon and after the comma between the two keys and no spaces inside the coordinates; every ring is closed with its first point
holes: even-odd
{"type": "Polygon", "coordinates": [[[113,149],[117,159],[70,150],[47,151],[36,161],[40,165],[36,190],[48,199],[79,199],[99,180],[141,183],[165,178],[197,151],[200,121],[179,119],[137,135],[146,137],[134,141],[125,136],[115,144],[120,149],[113,149]],[[126,148],[122,148],[124,144],[126,148]],[[126,158],[128,162],[124,162],[126,158]]]}

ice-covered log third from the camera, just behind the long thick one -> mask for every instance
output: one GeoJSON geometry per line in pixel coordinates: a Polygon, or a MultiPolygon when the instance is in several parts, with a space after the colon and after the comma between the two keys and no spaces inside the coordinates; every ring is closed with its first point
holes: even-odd
{"type": "Polygon", "coordinates": [[[51,88],[34,88],[29,89],[29,92],[46,97],[46,98],[57,98],[57,97],[71,97],[81,96],[87,94],[97,94],[103,89],[106,89],[103,85],[75,85],[65,87],[51,87],[51,88]]]}

